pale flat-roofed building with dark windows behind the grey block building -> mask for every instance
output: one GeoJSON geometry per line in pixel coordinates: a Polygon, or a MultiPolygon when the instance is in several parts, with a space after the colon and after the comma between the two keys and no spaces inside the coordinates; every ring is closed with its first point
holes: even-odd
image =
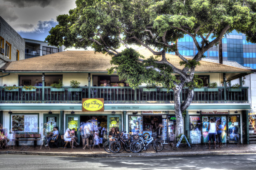
{"type": "Polygon", "coordinates": [[[53,54],[58,53],[61,51],[64,51],[64,45],[61,47],[56,47],[52,45],[48,45],[47,42],[39,41],[39,40],[31,40],[26,39],[25,40],[25,59],[32,58],[32,57],[38,57],[43,56],[47,54],[53,54]]]}

